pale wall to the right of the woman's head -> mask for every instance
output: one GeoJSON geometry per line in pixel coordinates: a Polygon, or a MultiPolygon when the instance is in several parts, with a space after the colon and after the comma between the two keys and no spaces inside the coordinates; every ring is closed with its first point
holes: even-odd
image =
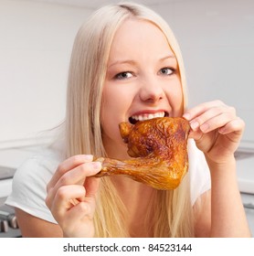
{"type": "Polygon", "coordinates": [[[154,6],[182,47],[189,105],[220,99],[246,122],[254,148],[254,1],[193,0],[154,6]]]}

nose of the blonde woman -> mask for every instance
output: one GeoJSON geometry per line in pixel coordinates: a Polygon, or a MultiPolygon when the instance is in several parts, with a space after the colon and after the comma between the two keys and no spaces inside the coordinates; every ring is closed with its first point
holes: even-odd
{"type": "Polygon", "coordinates": [[[142,83],[139,97],[141,101],[155,103],[164,98],[164,90],[158,81],[145,80],[142,83]]]}

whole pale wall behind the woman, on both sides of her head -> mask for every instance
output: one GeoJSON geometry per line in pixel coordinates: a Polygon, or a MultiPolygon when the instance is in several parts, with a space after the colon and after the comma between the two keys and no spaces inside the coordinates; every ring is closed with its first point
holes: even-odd
{"type": "MultiPolygon", "coordinates": [[[[170,1],[153,8],[182,47],[189,105],[221,99],[236,106],[247,124],[242,145],[254,148],[254,1],[170,1]]],[[[0,0],[0,148],[33,142],[62,121],[70,49],[89,14],[0,0]]]]}

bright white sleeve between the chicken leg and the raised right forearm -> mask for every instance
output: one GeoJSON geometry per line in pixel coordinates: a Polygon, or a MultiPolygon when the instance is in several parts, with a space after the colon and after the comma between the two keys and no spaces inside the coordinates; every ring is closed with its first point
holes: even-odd
{"type": "Polygon", "coordinates": [[[188,141],[189,176],[191,187],[191,201],[196,199],[211,188],[210,171],[205,155],[200,151],[193,139],[188,141]]]}

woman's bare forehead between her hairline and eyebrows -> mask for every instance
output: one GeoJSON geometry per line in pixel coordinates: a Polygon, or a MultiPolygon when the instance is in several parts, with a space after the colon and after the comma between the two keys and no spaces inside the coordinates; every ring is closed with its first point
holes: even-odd
{"type": "Polygon", "coordinates": [[[117,29],[111,44],[110,59],[113,56],[137,54],[164,55],[173,52],[159,27],[147,20],[131,18],[117,29]]]}

